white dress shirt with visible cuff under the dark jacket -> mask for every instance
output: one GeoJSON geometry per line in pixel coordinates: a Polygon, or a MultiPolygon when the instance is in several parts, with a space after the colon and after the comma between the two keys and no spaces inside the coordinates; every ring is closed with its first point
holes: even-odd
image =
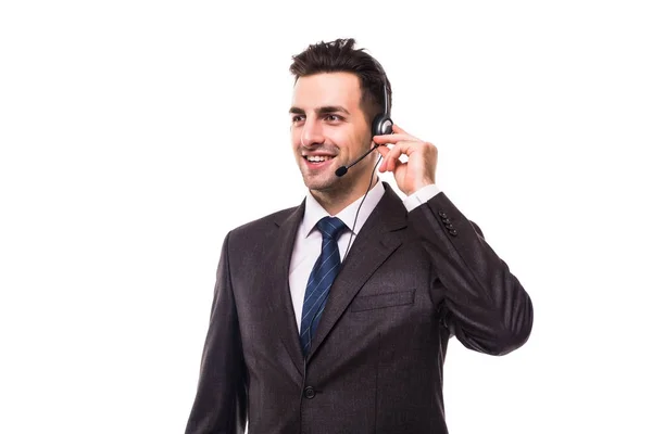
{"type": "MultiPolygon", "coordinates": [[[[414,192],[410,196],[403,200],[403,205],[411,212],[418,205],[428,202],[434,197],[440,190],[435,184],[426,186],[421,190],[414,192]]],[[[366,197],[360,197],[353,202],[340,213],[333,217],[338,217],[347,225],[347,229],[342,231],[338,239],[338,247],[340,252],[340,259],[343,261],[344,256],[348,253],[349,242],[351,246],[355,242],[355,237],[360,232],[360,229],[365,224],[372,210],[378,205],[380,199],[385,194],[385,188],[381,181],[377,181],[374,188],[372,188],[366,197]],[[355,213],[360,202],[364,199],[364,203],[360,207],[358,219],[355,219],[355,213]],[[355,227],[353,222],[355,221],[355,227]]],[[[301,330],[301,311],[303,310],[303,297],[305,295],[305,285],[312,271],[315,261],[319,257],[322,252],[322,233],[316,229],[317,221],[323,217],[329,216],[329,214],[319,205],[319,203],[309,192],[305,196],[305,213],[303,219],[299,225],[297,231],[297,239],[294,241],[294,250],[292,252],[292,259],[290,261],[290,294],[292,296],[292,305],[294,307],[294,315],[297,317],[297,330],[301,330]]],[[[350,250],[351,247],[349,247],[350,250]]]]}

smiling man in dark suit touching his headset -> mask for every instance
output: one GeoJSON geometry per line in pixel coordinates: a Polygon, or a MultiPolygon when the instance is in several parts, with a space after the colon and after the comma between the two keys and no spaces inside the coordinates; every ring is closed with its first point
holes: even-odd
{"type": "Polygon", "coordinates": [[[530,298],[438,190],[437,149],[374,124],[391,86],[354,43],[293,58],[309,192],[226,235],[187,434],[447,433],[449,339],[504,355],[529,337],[530,298]]]}

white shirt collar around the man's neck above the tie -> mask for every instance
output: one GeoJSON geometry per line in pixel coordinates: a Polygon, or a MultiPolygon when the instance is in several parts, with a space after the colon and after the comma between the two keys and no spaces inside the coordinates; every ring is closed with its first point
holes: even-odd
{"type": "MultiPolygon", "coordinates": [[[[378,179],[376,184],[367,193],[366,197],[362,196],[334,217],[338,217],[340,220],[342,220],[344,225],[347,225],[347,228],[350,230],[352,229],[353,234],[358,235],[360,228],[362,228],[376,205],[378,205],[383,194],[385,194],[385,187],[383,186],[380,179],[378,179]],[[360,207],[360,213],[358,213],[358,207],[363,199],[364,203],[360,207]],[[355,220],[356,213],[358,220],[355,220]],[[353,222],[355,222],[355,228],[353,228],[353,222]]],[[[305,213],[303,214],[303,221],[301,225],[301,237],[306,238],[315,228],[317,221],[327,216],[329,216],[329,214],[326,212],[326,209],[324,209],[324,207],[322,207],[322,205],[319,205],[315,197],[309,192],[305,197],[305,213]]]]}

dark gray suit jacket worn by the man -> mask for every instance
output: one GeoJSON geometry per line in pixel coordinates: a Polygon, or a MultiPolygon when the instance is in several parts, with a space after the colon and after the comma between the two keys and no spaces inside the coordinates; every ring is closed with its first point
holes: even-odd
{"type": "Polygon", "coordinates": [[[441,192],[406,213],[385,194],[342,264],[304,359],[288,275],[300,206],[225,238],[186,434],[448,433],[450,336],[504,355],[532,305],[441,192]]]}

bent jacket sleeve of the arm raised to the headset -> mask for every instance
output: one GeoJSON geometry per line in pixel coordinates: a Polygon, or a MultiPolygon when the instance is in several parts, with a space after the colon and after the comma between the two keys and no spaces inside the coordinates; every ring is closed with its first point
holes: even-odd
{"type": "Polygon", "coordinates": [[[521,347],[532,328],[532,303],[507,265],[440,192],[409,214],[444,289],[440,314],[467,348],[494,356],[521,347]]]}

